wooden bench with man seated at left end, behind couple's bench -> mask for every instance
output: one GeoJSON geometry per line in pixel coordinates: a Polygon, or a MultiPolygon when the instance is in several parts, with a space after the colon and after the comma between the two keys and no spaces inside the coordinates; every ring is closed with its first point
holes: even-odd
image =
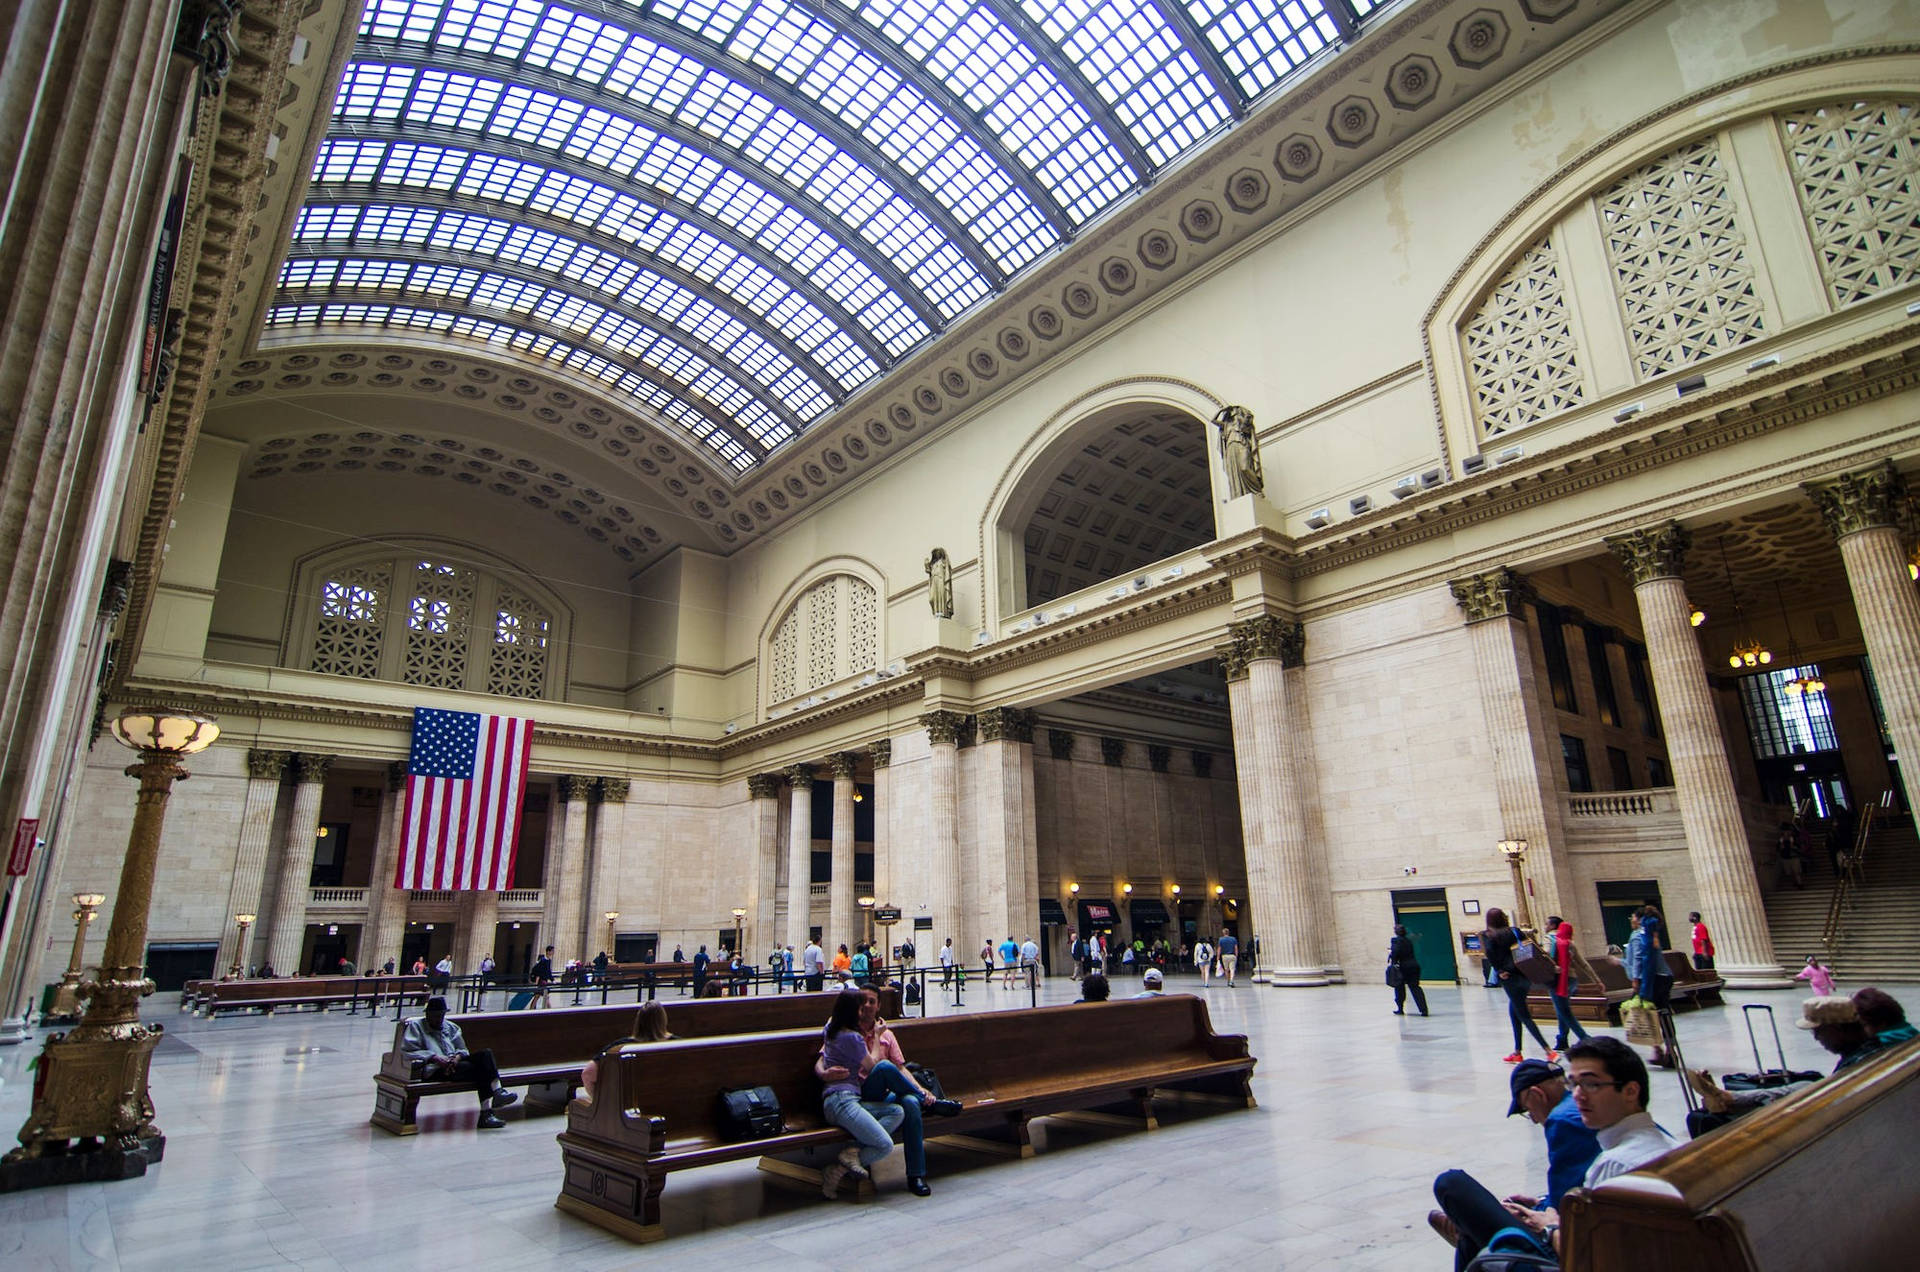
{"type": "MultiPolygon", "coordinates": [[[[532,1088],[540,1103],[561,1105],[580,1086],[580,1070],[609,1045],[634,1032],[634,1003],[607,1007],[561,1007],[555,1011],[488,1011],[449,1016],[461,1026],[468,1051],[492,1051],[503,1086],[532,1088]]],[[[687,999],[666,1009],[666,1028],[676,1038],[716,1038],[720,1034],[764,1034],[768,1030],[814,1030],[826,1026],[833,999],[826,993],[781,993],[764,997],[687,999]]],[[[879,997],[883,1016],[900,1011],[900,991],[879,997]]],[[[372,1116],[380,1130],[396,1136],[419,1132],[415,1114],[424,1095],[472,1095],[472,1084],[415,1078],[413,1061],[403,1051],[405,1022],[394,1026],[394,1049],[380,1057],[372,1080],[372,1116]]]]}

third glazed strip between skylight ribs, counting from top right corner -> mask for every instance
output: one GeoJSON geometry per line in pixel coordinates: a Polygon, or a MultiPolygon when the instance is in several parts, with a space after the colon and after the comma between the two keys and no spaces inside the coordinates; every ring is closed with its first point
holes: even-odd
{"type": "Polygon", "coordinates": [[[1177,0],[1021,0],[1156,167],[1233,117],[1160,4],[1177,0]]]}

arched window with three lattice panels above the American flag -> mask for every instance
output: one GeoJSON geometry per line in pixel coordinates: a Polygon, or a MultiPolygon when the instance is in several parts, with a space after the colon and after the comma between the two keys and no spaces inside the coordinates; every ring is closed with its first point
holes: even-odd
{"type": "Polygon", "coordinates": [[[301,569],[290,665],[501,697],[551,697],[561,607],[445,551],[332,553],[301,569]]]}

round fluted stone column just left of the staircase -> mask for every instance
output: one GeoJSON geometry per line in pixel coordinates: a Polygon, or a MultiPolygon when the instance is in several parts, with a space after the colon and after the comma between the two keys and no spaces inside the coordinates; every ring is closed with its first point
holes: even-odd
{"type": "Polygon", "coordinates": [[[1791,982],[1774,961],[1774,938],[1761,905],[1761,882],[1753,874],[1734,772],[1726,765],[1713,690],[1707,688],[1707,669],[1688,623],[1680,569],[1690,542],[1686,528],[1668,521],[1653,530],[1609,538],[1607,548],[1626,567],[1640,601],[1686,851],[1699,886],[1699,909],[1716,938],[1715,968],[1736,990],[1782,988],[1791,982]]]}

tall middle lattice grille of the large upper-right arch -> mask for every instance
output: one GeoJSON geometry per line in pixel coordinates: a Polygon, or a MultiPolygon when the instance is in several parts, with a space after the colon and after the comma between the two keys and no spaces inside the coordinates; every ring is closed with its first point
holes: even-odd
{"type": "Polygon", "coordinates": [[[1596,204],[1640,379],[1766,334],[1713,138],[1661,156],[1596,204]]]}

